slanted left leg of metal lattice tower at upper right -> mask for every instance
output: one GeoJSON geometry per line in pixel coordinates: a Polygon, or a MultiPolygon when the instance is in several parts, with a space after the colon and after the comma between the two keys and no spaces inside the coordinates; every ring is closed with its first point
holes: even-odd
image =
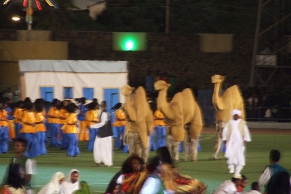
{"type": "Polygon", "coordinates": [[[254,74],[255,74],[255,66],[256,66],[256,53],[258,51],[258,34],[260,31],[261,25],[261,14],[263,9],[263,0],[258,0],[258,14],[256,15],[256,32],[254,37],[254,51],[253,51],[253,58],[252,58],[252,69],[251,69],[251,76],[249,79],[249,85],[254,85],[254,74]]]}

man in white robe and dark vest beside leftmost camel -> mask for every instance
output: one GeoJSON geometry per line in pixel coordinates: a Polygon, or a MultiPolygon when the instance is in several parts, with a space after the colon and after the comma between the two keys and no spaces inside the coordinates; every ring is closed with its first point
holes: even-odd
{"type": "Polygon", "coordinates": [[[101,102],[100,123],[90,125],[91,128],[96,129],[97,136],[94,141],[94,161],[95,166],[100,166],[102,163],[105,166],[112,166],[112,127],[109,113],[106,111],[106,101],[101,102]]]}

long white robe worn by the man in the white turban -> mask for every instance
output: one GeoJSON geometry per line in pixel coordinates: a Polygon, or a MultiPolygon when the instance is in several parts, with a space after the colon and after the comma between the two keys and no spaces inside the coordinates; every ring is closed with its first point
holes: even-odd
{"type": "Polygon", "coordinates": [[[240,134],[238,130],[238,123],[241,119],[231,119],[224,127],[222,132],[222,141],[227,140],[227,134],[229,132],[229,125],[232,130],[229,136],[229,140],[226,145],[225,157],[227,157],[227,164],[234,164],[236,166],[245,166],[245,145],[244,141],[251,141],[251,135],[249,134],[249,128],[244,126],[244,136],[240,134]]]}

